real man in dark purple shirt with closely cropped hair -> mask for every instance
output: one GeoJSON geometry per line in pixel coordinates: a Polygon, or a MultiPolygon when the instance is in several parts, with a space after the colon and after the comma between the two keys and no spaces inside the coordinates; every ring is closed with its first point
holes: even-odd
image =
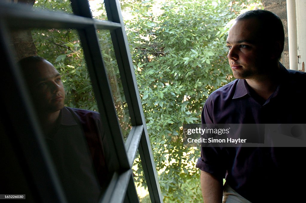
{"type": "MultiPolygon", "coordinates": [[[[237,79],[211,93],[203,124],[306,123],[299,105],[306,73],[287,70],[278,61],[284,48],[278,16],[266,10],[241,14],[226,45],[237,79]]],[[[304,147],[201,147],[197,167],[204,202],[302,201],[305,152],[304,147]]]]}

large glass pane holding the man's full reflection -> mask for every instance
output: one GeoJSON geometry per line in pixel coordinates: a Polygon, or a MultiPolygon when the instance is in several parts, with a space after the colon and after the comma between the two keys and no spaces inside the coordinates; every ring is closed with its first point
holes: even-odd
{"type": "Polygon", "coordinates": [[[107,140],[77,31],[11,33],[16,60],[68,202],[98,202],[112,174],[106,168],[102,143],[107,140]]]}

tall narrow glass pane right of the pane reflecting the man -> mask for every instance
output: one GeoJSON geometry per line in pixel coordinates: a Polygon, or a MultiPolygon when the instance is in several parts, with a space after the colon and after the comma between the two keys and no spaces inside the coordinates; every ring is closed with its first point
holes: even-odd
{"type": "Polygon", "coordinates": [[[129,116],[128,104],[125,100],[123,86],[120,79],[117,60],[115,58],[113,44],[111,43],[110,31],[98,30],[98,37],[122,134],[126,140],[132,125],[129,116]]]}

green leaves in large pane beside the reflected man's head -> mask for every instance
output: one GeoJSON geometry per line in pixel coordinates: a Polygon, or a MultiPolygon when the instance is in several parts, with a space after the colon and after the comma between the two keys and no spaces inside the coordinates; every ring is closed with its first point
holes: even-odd
{"type": "Polygon", "coordinates": [[[50,61],[62,75],[65,105],[97,111],[83,49],[76,30],[32,30],[37,52],[50,61]]]}

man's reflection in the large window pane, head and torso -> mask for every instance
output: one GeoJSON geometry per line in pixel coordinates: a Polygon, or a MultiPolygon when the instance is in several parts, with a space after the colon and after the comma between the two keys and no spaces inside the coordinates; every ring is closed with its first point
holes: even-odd
{"type": "Polygon", "coordinates": [[[99,113],[64,106],[61,75],[47,60],[19,62],[68,202],[97,202],[107,170],[99,113]]]}

